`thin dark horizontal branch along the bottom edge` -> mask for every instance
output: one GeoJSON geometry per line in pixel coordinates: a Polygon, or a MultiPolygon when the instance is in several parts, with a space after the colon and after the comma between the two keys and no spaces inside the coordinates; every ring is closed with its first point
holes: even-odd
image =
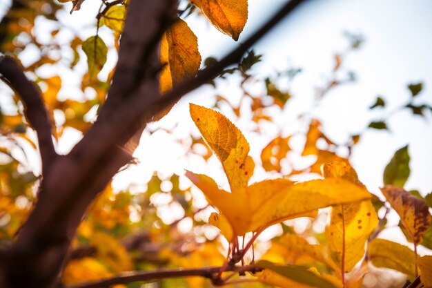
{"type": "MultiPolygon", "coordinates": [[[[216,282],[216,284],[221,284],[217,282],[221,281],[221,279],[217,278],[216,274],[219,273],[222,268],[223,267],[204,267],[195,269],[163,269],[150,272],[126,272],[112,278],[106,278],[96,282],[84,283],[81,285],[74,285],[68,288],[102,288],[110,287],[111,285],[128,284],[130,282],[136,281],[155,281],[159,279],[191,276],[201,276],[204,278],[208,278],[213,282],[216,282]]],[[[227,269],[225,269],[224,271],[233,271],[239,273],[249,271],[256,273],[258,271],[261,271],[261,269],[257,268],[256,266],[249,265],[242,267],[227,267],[227,269]]]]}

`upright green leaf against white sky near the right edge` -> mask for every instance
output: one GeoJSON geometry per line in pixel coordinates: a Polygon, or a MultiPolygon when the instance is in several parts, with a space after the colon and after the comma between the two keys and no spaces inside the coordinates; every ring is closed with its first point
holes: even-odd
{"type": "Polygon", "coordinates": [[[396,151],[384,169],[384,184],[403,188],[409,173],[409,153],[408,145],[406,145],[396,151]]]}

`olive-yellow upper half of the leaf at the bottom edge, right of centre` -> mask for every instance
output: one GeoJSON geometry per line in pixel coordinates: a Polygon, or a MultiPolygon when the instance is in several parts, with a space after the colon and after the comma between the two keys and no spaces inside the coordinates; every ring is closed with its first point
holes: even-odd
{"type": "Polygon", "coordinates": [[[315,273],[308,271],[306,267],[294,266],[294,265],[275,265],[270,261],[260,260],[256,264],[259,268],[269,269],[275,273],[294,280],[295,282],[300,282],[304,285],[309,285],[312,287],[319,288],[335,288],[331,282],[325,280],[324,278],[317,276],[315,273]]]}

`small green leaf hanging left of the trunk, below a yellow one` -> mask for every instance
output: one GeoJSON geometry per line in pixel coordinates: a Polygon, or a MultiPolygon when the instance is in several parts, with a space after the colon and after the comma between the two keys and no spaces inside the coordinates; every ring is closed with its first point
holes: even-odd
{"type": "Polygon", "coordinates": [[[108,48],[99,36],[92,36],[83,43],[83,50],[87,55],[88,73],[90,79],[101,72],[106,62],[108,48]]]}

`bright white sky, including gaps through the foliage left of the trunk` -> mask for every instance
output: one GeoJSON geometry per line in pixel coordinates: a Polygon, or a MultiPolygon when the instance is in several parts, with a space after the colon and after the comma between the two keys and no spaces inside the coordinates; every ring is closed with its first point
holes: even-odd
{"type": "MultiPolygon", "coordinates": [[[[0,0],[0,8],[6,2],[0,0]]],[[[248,23],[239,41],[243,41],[257,30],[285,2],[249,0],[248,23]]],[[[95,22],[94,17],[99,5],[99,1],[87,0],[80,11],[69,15],[68,3],[67,9],[59,14],[59,19],[86,39],[95,35],[95,28],[90,24],[95,22]]],[[[366,41],[360,50],[351,53],[344,61],[344,66],[357,75],[357,81],[331,90],[320,106],[313,109],[312,114],[322,121],[326,135],[332,140],[345,142],[348,135],[360,133],[371,120],[380,119],[386,111],[406,104],[411,97],[406,88],[409,83],[424,83],[424,90],[415,103],[432,104],[431,12],[432,1],[429,0],[307,1],[254,47],[257,53],[264,55],[262,63],[255,67],[259,75],[272,75],[286,68],[302,68],[302,73],[293,81],[293,99],[288,102],[284,113],[276,117],[277,126],[282,128],[285,136],[307,128],[297,116],[310,110],[315,88],[330,76],[334,65],[334,53],[346,48],[348,41],[342,36],[343,31],[359,33],[366,41]],[[377,108],[371,112],[368,107],[375,102],[377,95],[382,95],[387,106],[384,111],[377,108]]],[[[204,19],[192,16],[188,17],[187,21],[199,39],[202,59],[208,56],[221,58],[238,45],[204,19]]],[[[43,29],[41,28],[39,33],[40,37],[48,33],[43,29]]],[[[110,33],[102,28],[100,36],[112,47],[110,33]]],[[[66,33],[63,37],[71,35],[66,33]]],[[[32,50],[26,50],[28,51],[23,54],[21,61],[24,64],[26,61],[31,64],[32,50]]],[[[101,77],[106,77],[116,61],[115,52],[111,51],[101,77]]],[[[77,70],[81,73],[86,70],[84,54],[77,70]]],[[[53,72],[46,73],[49,75],[53,72]]],[[[54,73],[61,75],[65,85],[59,97],[86,97],[76,87],[80,81],[78,77],[61,69],[54,73]]],[[[190,131],[197,134],[197,129],[188,114],[189,102],[211,106],[214,102],[211,95],[221,93],[224,97],[233,99],[235,103],[240,91],[233,83],[235,80],[222,81],[217,91],[204,87],[190,93],[161,122],[150,125],[150,128],[172,127],[173,123],[180,119],[179,130],[174,136],[162,132],[153,135],[144,133],[141,138],[142,144],[135,152],[135,157],[139,158],[141,163],[120,173],[116,177],[115,185],[121,189],[130,183],[145,184],[154,171],[159,171],[163,175],[170,175],[173,172],[182,175],[184,169],[211,175],[219,184],[226,185],[226,179],[215,157],[210,158],[208,164],[198,157],[185,160],[181,157],[184,148],[173,142],[173,138],[181,137],[190,131]]],[[[262,89],[262,86],[257,86],[257,93],[259,89],[262,89]]],[[[251,155],[259,166],[259,153],[277,135],[277,128],[265,126],[266,135],[257,137],[256,133],[248,132],[253,128],[251,122],[247,119],[237,120],[232,113],[225,112],[246,135],[251,144],[251,155]]],[[[277,114],[277,111],[275,113],[277,114]]],[[[373,193],[377,193],[378,187],[382,186],[384,166],[393,153],[406,144],[409,144],[411,155],[411,176],[406,188],[418,189],[423,195],[432,191],[432,117],[429,111],[426,115],[425,120],[403,111],[395,114],[388,122],[392,133],[369,129],[362,135],[360,144],[355,146],[353,151],[352,162],[360,180],[373,193]]],[[[66,131],[59,142],[58,151],[66,153],[78,139],[79,133],[73,130],[66,131]]],[[[302,144],[302,140],[297,141],[297,144],[302,144]]],[[[268,177],[262,169],[256,170],[257,175],[253,180],[268,177]]]]}

